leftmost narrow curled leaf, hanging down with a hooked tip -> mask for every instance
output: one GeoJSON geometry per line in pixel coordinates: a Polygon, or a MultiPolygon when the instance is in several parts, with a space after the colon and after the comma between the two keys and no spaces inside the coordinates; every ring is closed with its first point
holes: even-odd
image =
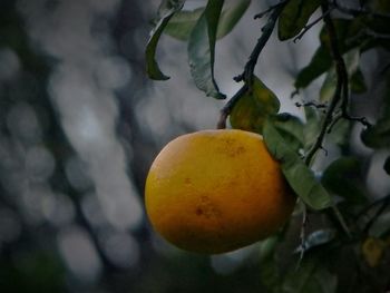
{"type": "Polygon", "coordinates": [[[155,80],[166,80],[169,79],[168,76],[164,75],[158,67],[156,61],[156,49],[159,37],[162,36],[166,25],[175,12],[183,8],[185,0],[163,0],[158,8],[157,22],[153,30],[150,31],[149,40],[146,45],[146,72],[155,80]]]}

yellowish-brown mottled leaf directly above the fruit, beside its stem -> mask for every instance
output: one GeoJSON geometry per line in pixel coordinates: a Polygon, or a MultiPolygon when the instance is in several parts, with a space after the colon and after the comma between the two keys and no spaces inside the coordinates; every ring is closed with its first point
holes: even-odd
{"type": "Polygon", "coordinates": [[[269,115],[276,114],[280,101],[257,77],[253,85],[234,105],[230,121],[233,128],[262,133],[263,124],[269,115]]]}

